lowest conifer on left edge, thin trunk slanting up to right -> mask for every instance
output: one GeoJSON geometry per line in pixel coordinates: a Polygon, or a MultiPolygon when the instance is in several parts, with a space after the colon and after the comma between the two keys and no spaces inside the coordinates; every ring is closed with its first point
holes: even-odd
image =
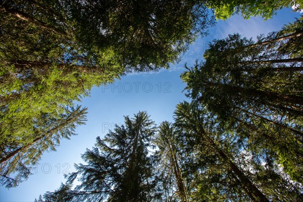
{"type": "MultiPolygon", "coordinates": [[[[41,113],[32,120],[31,129],[21,137],[17,132],[1,139],[0,182],[7,188],[26,180],[44,151],[56,150],[60,139],[75,135],[77,125],[85,124],[86,108],[65,107],[63,113],[41,113]]],[[[12,128],[12,130],[14,130],[12,128]]],[[[18,128],[17,128],[18,131],[18,128]]]]}

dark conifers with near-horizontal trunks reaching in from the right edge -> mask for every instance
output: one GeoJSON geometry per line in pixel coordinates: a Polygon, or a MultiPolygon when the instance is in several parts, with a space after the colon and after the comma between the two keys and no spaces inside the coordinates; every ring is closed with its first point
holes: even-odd
{"type": "Polygon", "coordinates": [[[302,19],[251,39],[214,41],[205,62],[182,74],[188,96],[248,138],[269,149],[293,180],[302,182],[302,19]]]}

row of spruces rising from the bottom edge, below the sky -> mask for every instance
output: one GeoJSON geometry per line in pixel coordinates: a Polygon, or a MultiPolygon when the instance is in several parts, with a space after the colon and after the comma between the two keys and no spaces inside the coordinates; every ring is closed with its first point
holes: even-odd
{"type": "Polygon", "coordinates": [[[174,118],[157,128],[146,112],[126,116],[86,150],[86,164],[76,165],[65,184],[36,201],[302,199],[302,185],[281,171],[270,150],[247,149],[199,103],[178,104],[174,118]]]}

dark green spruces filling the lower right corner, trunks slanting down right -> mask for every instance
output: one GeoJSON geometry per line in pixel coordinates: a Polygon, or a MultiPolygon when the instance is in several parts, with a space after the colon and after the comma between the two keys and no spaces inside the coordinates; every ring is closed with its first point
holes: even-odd
{"type": "Polygon", "coordinates": [[[302,186],[285,176],[264,151],[251,152],[237,133],[199,103],[183,102],[175,111],[185,179],[192,201],[299,200],[302,186]]]}

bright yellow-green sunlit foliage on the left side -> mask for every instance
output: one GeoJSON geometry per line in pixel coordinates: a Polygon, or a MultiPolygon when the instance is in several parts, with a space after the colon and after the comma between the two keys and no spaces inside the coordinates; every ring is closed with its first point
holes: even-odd
{"type": "MultiPolygon", "coordinates": [[[[89,89],[94,85],[100,85],[100,82],[104,80],[113,79],[112,75],[105,71],[78,65],[58,67],[32,63],[31,67],[28,67],[27,64],[19,63],[18,68],[9,73],[13,76],[9,81],[2,80],[3,94],[0,97],[0,147],[6,148],[5,152],[7,152],[8,145],[12,148],[22,147],[24,153],[32,153],[34,149],[37,152],[44,151],[45,149],[41,148],[41,145],[43,145],[42,141],[46,141],[45,138],[39,139],[39,144],[33,144],[30,147],[24,145],[31,145],[32,142],[28,142],[29,140],[34,141],[38,134],[46,133],[42,130],[46,127],[45,122],[55,122],[56,120],[58,126],[64,125],[62,115],[71,115],[69,109],[76,110],[73,114],[78,114],[80,118],[84,111],[79,111],[80,108],[75,107],[73,101],[80,101],[81,95],[87,96],[89,89]],[[42,131],[36,131],[39,128],[42,131]],[[26,149],[28,151],[25,151],[26,149]]],[[[6,76],[4,75],[4,77],[6,76]]],[[[71,119],[69,124],[77,125],[77,119],[71,119]]],[[[63,134],[63,136],[66,135],[69,136],[69,133],[63,134]]],[[[48,143],[44,142],[44,144],[48,143]]],[[[3,160],[6,161],[6,158],[3,160]]],[[[10,166],[10,160],[8,161],[1,163],[10,166]]],[[[34,160],[34,162],[36,161],[34,160]]],[[[19,170],[14,168],[11,166],[8,173],[17,174],[19,170]]],[[[23,175],[22,172],[24,171],[20,170],[20,175],[23,175]]],[[[10,183],[8,187],[18,185],[20,181],[22,180],[10,183]]]]}

